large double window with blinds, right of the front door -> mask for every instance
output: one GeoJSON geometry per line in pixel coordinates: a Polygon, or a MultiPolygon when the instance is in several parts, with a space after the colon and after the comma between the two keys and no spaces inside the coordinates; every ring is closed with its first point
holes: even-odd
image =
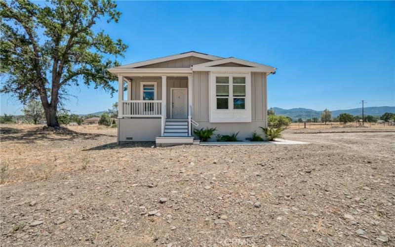
{"type": "Polygon", "coordinates": [[[245,77],[215,77],[217,110],[245,110],[245,77]]]}

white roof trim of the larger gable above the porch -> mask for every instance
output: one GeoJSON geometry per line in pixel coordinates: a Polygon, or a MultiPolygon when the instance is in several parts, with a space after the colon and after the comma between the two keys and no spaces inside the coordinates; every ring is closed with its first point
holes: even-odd
{"type": "Polygon", "coordinates": [[[191,57],[191,56],[204,58],[204,59],[208,59],[208,60],[222,59],[222,57],[217,57],[217,56],[213,56],[213,55],[190,51],[190,52],[185,52],[185,53],[180,53],[180,54],[175,54],[175,55],[170,55],[170,56],[165,56],[165,57],[159,57],[159,58],[150,59],[150,60],[146,60],[146,61],[142,61],[142,62],[130,63],[130,64],[118,66],[115,68],[111,68],[110,72],[112,72],[111,70],[113,70],[113,69],[133,69],[133,68],[137,68],[137,67],[141,67],[141,66],[147,66],[147,65],[151,65],[151,64],[167,62],[170,60],[180,59],[180,58],[184,58],[184,57],[191,57]]]}

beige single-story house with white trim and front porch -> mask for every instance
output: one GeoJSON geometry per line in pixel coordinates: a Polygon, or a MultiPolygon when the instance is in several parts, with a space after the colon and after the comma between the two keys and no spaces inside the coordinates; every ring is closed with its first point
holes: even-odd
{"type": "Polygon", "coordinates": [[[267,126],[274,67],[189,51],[109,71],[118,76],[118,143],[192,144],[194,128],[203,127],[245,140],[267,126]]]}

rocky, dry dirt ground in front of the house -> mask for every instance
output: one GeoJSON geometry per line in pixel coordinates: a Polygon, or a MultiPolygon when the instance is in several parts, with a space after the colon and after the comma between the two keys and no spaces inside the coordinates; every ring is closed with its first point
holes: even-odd
{"type": "Polygon", "coordinates": [[[395,245],[394,130],[166,148],[1,130],[0,246],[395,245]]]}

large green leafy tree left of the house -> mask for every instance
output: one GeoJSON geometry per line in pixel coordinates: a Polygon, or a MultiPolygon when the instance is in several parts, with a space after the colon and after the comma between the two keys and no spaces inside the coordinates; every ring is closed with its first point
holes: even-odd
{"type": "Polygon", "coordinates": [[[1,92],[27,102],[39,97],[48,126],[58,127],[59,103],[80,82],[113,94],[118,66],[127,45],[95,26],[100,18],[118,22],[111,0],[0,1],[1,92]]]}

